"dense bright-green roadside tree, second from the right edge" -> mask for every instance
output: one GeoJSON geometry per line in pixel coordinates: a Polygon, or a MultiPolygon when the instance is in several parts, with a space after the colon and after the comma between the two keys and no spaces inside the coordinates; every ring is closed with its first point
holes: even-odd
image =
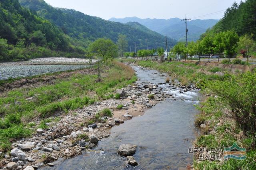
{"type": "Polygon", "coordinates": [[[234,31],[222,32],[221,40],[224,46],[224,53],[229,57],[230,61],[231,56],[234,56],[236,53],[236,47],[239,41],[238,34],[234,31]]]}

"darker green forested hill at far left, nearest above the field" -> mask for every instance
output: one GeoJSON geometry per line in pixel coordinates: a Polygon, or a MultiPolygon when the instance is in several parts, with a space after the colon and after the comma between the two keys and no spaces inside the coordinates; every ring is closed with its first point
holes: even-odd
{"type": "Polygon", "coordinates": [[[84,54],[84,48],[74,45],[62,30],[20,6],[18,0],[0,1],[0,61],[84,54]]]}

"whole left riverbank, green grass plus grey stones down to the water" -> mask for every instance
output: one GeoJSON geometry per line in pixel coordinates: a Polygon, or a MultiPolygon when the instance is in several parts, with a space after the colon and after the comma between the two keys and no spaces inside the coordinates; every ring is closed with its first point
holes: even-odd
{"type": "Polygon", "coordinates": [[[58,158],[76,156],[82,150],[95,147],[95,139],[108,137],[110,127],[143,115],[144,109],[166,98],[156,89],[156,84],[144,82],[130,85],[136,77],[134,70],[124,64],[115,63],[104,73],[100,83],[93,81],[96,79],[94,74],[93,69],[61,73],[54,79],[46,76],[42,77],[42,82],[34,79],[31,86],[25,83],[2,92],[0,103],[5,118],[1,126],[10,123],[9,127],[1,127],[2,168],[53,166],[51,162],[58,158]],[[44,81],[47,78],[51,81],[44,81]],[[76,93],[70,85],[74,86],[76,93]],[[80,86],[89,86],[89,89],[81,88],[80,91],[80,86]],[[113,94],[115,89],[121,87],[126,88],[113,94]],[[47,91],[49,93],[45,93],[47,91]],[[59,99],[49,101],[51,96],[59,96],[59,99]],[[66,107],[67,104],[70,107],[66,107]],[[21,112],[21,108],[26,108],[26,111],[21,112]],[[17,121],[13,122],[14,119],[17,121]],[[19,128],[18,131],[15,128],[19,128]],[[94,141],[90,136],[94,136],[94,141]]]}

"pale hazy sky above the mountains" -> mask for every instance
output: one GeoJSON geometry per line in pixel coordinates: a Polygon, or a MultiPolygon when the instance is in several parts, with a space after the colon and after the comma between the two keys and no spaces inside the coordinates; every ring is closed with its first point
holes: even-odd
{"type": "MultiPolygon", "coordinates": [[[[220,19],[235,0],[45,0],[54,7],[72,8],[105,20],[139,18],[220,19]],[[213,14],[214,13],[214,14],[213,14]],[[208,14],[208,15],[207,15],[208,14]]],[[[237,0],[240,2],[240,0],[237,0]]]]}

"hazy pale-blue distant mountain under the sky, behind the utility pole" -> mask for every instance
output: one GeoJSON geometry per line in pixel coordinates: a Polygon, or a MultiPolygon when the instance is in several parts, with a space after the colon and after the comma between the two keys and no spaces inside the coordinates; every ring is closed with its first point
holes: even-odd
{"type": "MultiPolygon", "coordinates": [[[[150,30],[158,32],[162,35],[166,35],[170,38],[174,38],[179,41],[185,40],[185,24],[180,18],[165,19],[140,19],[137,17],[127,17],[127,18],[110,18],[109,21],[128,23],[128,22],[138,22],[150,30]]],[[[188,40],[195,41],[200,38],[200,35],[206,32],[208,28],[212,28],[218,20],[208,19],[208,20],[191,20],[188,22],[188,40]]]]}

